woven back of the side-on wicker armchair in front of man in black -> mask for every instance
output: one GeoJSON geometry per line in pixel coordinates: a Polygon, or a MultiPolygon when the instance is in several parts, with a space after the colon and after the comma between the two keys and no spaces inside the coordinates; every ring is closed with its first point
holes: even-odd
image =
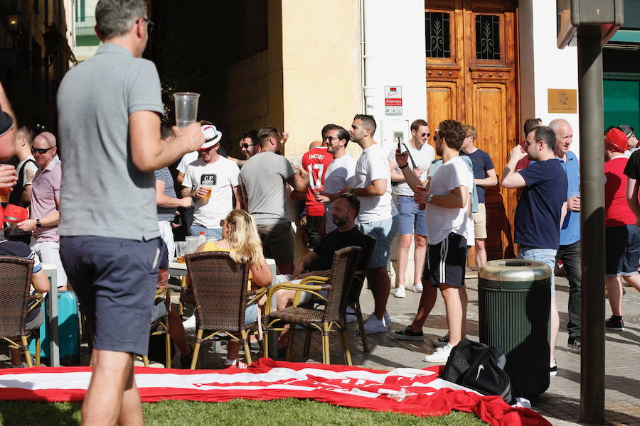
{"type": "Polygon", "coordinates": [[[329,293],[326,296],[323,320],[326,322],[338,320],[347,305],[347,298],[353,282],[353,275],[358,268],[358,259],[362,249],[360,247],[345,247],[334,253],[334,263],[331,266],[329,293]]]}

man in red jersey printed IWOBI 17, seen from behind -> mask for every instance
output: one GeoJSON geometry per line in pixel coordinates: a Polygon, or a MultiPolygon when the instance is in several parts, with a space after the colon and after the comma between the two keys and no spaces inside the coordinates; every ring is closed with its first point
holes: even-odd
{"type": "MultiPolygon", "coordinates": [[[[322,134],[324,138],[324,133],[322,134]]],[[[320,242],[320,226],[324,219],[324,204],[316,201],[314,191],[324,191],[324,175],[334,160],[334,155],[326,150],[322,142],[315,141],[309,145],[309,151],[302,155],[302,168],[309,173],[309,187],[306,189],[304,206],[306,207],[306,236],[309,249],[313,250],[320,242]]]]}

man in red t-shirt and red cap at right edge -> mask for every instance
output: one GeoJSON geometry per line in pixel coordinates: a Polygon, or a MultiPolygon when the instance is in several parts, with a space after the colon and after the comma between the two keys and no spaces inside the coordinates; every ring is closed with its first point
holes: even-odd
{"type": "Polygon", "coordinates": [[[609,130],[607,136],[604,136],[604,159],[607,161],[604,163],[604,226],[607,247],[604,271],[607,275],[612,317],[605,322],[605,327],[621,332],[624,330],[621,275],[627,283],[640,290],[640,228],[636,226],[636,216],[626,202],[625,173],[629,169],[627,162],[631,163],[631,160],[626,159],[624,151],[626,135],[619,129],[609,130]]]}

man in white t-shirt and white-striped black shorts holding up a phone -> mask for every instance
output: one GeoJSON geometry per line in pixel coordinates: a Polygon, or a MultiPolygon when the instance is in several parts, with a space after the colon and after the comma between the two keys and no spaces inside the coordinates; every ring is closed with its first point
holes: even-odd
{"type": "MultiPolygon", "coordinates": [[[[425,357],[426,362],[446,362],[453,346],[466,333],[466,293],[464,271],[466,268],[467,241],[473,238],[473,224],[469,220],[469,200],[474,185],[474,176],[459,156],[466,136],[462,124],[445,120],[439,124],[434,141],[436,153],[442,157],[442,165],[429,182],[427,192],[416,192],[415,201],[426,204],[429,246],[425,280],[437,287],[444,298],[449,327],[449,343],[441,346],[433,354],[425,357]]],[[[420,180],[408,169],[407,153],[398,153],[396,162],[402,169],[407,183],[415,190],[420,180]]],[[[425,309],[433,306],[433,292],[423,293],[425,309]],[[427,293],[431,295],[428,297],[427,293]],[[430,298],[429,301],[426,298],[430,298]]],[[[421,306],[423,300],[420,300],[421,306]]],[[[420,315],[420,312],[419,312],[420,315]]],[[[396,332],[398,338],[416,337],[422,339],[422,329],[406,327],[396,332]]]]}

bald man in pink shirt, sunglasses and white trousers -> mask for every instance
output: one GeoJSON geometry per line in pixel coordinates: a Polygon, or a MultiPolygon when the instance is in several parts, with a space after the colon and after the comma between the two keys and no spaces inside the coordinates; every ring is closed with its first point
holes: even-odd
{"type": "Polygon", "coordinates": [[[48,131],[33,139],[31,148],[38,171],[31,183],[29,219],[18,223],[23,231],[33,231],[31,249],[43,263],[53,263],[58,271],[58,288],[66,290],[67,274],[60,261],[60,180],[62,166],[58,158],[55,136],[48,131]]]}

